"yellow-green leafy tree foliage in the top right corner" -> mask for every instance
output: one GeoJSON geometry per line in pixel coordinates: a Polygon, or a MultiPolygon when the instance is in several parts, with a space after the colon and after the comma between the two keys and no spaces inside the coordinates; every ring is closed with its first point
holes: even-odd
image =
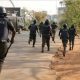
{"type": "Polygon", "coordinates": [[[63,20],[69,25],[75,24],[80,27],[80,0],[64,0],[65,12],[62,15],[63,20]]]}

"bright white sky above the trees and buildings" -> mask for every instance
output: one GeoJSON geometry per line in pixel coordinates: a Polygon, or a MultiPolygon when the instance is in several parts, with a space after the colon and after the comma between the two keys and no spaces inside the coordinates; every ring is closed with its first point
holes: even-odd
{"type": "MultiPolygon", "coordinates": [[[[47,11],[49,15],[57,14],[60,0],[12,0],[15,7],[34,11],[47,11]]],[[[0,6],[12,7],[9,0],[0,0],[0,6]]]]}

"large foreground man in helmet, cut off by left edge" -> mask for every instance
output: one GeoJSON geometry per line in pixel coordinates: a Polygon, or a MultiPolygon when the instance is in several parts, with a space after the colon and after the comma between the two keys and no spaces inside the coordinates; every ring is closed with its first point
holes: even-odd
{"type": "Polygon", "coordinates": [[[0,71],[1,71],[2,63],[4,62],[4,59],[7,56],[8,49],[9,49],[7,46],[9,30],[12,32],[12,37],[10,42],[11,44],[13,44],[14,37],[15,37],[15,28],[7,18],[7,13],[5,8],[0,7],[0,71]]]}

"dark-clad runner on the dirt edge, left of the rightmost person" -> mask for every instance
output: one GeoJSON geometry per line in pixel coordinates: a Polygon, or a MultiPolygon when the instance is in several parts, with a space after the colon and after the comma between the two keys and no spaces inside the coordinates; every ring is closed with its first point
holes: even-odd
{"type": "Polygon", "coordinates": [[[64,24],[63,28],[60,29],[59,36],[60,36],[60,39],[62,40],[63,49],[64,49],[63,50],[63,56],[65,57],[66,47],[67,47],[68,37],[69,37],[68,29],[67,29],[67,25],[66,24],[64,24]]]}

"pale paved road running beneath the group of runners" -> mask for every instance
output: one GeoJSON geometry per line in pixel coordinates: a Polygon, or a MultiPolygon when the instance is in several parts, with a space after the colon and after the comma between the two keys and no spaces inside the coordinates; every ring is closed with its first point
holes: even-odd
{"type": "MultiPolygon", "coordinates": [[[[56,41],[59,42],[58,39],[56,41]]],[[[0,80],[56,80],[56,72],[50,70],[49,64],[60,45],[51,42],[51,51],[47,52],[45,48],[45,53],[41,53],[40,37],[37,37],[35,48],[27,42],[28,32],[16,35],[15,43],[5,59],[0,80]]]]}

